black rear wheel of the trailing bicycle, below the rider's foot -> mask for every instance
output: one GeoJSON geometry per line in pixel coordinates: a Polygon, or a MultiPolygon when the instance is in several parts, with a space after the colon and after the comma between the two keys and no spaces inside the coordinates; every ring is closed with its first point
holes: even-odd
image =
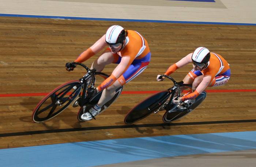
{"type": "Polygon", "coordinates": [[[203,91],[199,96],[197,96],[196,102],[193,103],[192,106],[189,107],[189,110],[187,110],[187,109],[180,110],[180,109],[176,108],[170,113],[168,111],[166,111],[165,114],[163,115],[163,122],[170,123],[170,122],[178,120],[178,119],[184,117],[185,115],[189,114],[190,112],[195,110],[196,107],[198,107],[204,101],[206,96],[207,96],[207,92],[203,91]]]}

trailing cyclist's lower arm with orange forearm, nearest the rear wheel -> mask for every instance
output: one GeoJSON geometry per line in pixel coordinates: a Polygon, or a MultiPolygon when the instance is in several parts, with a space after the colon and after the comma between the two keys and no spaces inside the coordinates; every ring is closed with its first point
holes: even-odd
{"type": "Polygon", "coordinates": [[[196,90],[186,96],[183,96],[181,101],[196,98],[208,87],[210,82],[211,82],[211,76],[210,75],[204,76],[203,81],[199,84],[199,86],[196,88],[196,90]]]}

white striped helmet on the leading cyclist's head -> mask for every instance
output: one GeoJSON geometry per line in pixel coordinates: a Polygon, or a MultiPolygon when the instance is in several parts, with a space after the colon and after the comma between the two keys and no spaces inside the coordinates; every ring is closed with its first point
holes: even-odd
{"type": "Polygon", "coordinates": [[[120,25],[112,25],[106,32],[106,43],[117,44],[125,40],[125,30],[120,25]]]}

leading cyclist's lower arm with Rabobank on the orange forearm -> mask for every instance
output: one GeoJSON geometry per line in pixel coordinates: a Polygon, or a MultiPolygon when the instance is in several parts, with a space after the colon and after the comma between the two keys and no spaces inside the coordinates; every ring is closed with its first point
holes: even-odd
{"type": "Polygon", "coordinates": [[[131,64],[131,57],[123,56],[121,62],[117,65],[112,74],[97,87],[98,91],[102,91],[103,89],[110,87],[127,70],[129,65],[131,64]]]}

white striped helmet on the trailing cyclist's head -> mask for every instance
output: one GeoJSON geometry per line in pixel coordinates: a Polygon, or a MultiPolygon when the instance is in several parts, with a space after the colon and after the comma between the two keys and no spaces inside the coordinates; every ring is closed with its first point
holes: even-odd
{"type": "Polygon", "coordinates": [[[208,61],[210,60],[210,51],[207,48],[199,47],[196,48],[196,50],[193,52],[192,60],[193,63],[199,64],[200,66],[206,65],[208,61]]]}

